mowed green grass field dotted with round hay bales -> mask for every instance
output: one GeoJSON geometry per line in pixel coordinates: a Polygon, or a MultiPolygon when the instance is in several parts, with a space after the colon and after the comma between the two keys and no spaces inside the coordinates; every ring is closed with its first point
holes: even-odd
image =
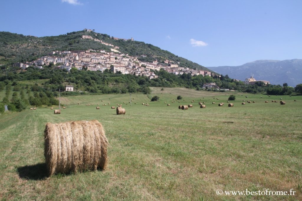
{"type": "Polygon", "coordinates": [[[149,95],[158,95],[159,102],[143,94],[132,94],[132,106],[129,94],[69,96],[61,97],[66,109],[60,115],[48,107],[0,116],[0,198],[302,200],[302,96],[240,93],[228,107],[231,92],[160,89],[149,95]],[[185,101],[172,103],[178,95],[185,101]],[[116,115],[116,104],[123,104],[126,115],[116,115]],[[188,104],[193,108],[178,109],[188,104]],[[46,177],[45,124],[93,119],[103,124],[110,143],[107,169],[46,177]],[[218,189],[296,193],[226,196],[217,195],[218,189]]]}

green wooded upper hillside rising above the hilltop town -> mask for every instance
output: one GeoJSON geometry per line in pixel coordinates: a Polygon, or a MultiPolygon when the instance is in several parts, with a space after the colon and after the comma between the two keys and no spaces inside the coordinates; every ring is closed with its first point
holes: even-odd
{"type": "Polygon", "coordinates": [[[44,56],[51,51],[63,50],[88,50],[104,49],[110,51],[111,47],[101,44],[91,39],[82,39],[83,35],[91,36],[93,39],[102,40],[114,46],[120,47],[119,51],[132,56],[137,56],[144,61],[164,61],[165,59],[179,62],[182,67],[198,68],[210,71],[209,69],[189,61],[185,58],[178,57],[171,52],[160,49],[139,41],[115,40],[113,37],[85,30],[71,32],[59,36],[24,36],[22,34],[0,32],[0,64],[9,64],[11,62],[32,61],[40,56],[44,56]],[[140,58],[141,55],[146,55],[140,58]]]}

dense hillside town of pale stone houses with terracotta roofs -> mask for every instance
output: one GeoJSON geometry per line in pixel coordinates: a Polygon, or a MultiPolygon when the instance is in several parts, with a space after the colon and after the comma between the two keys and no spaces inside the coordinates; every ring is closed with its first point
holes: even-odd
{"type": "MultiPolygon", "coordinates": [[[[87,36],[83,36],[87,38],[87,36]]],[[[102,41],[100,41],[102,42],[102,41]]],[[[111,44],[106,43],[108,46],[111,44]]],[[[159,63],[157,60],[153,62],[142,62],[137,57],[123,54],[118,51],[118,47],[111,49],[111,52],[104,50],[76,50],[76,51],[54,51],[46,56],[40,57],[37,60],[30,62],[14,63],[14,66],[21,69],[26,69],[29,66],[36,68],[43,68],[45,65],[53,64],[57,68],[66,69],[69,71],[71,68],[82,70],[86,68],[88,71],[101,71],[106,69],[114,73],[120,72],[121,74],[133,74],[138,76],[147,76],[149,79],[157,78],[155,70],[165,71],[173,74],[191,74],[202,76],[219,76],[205,70],[195,70],[178,66],[174,61],[165,60],[164,63],[159,63]]],[[[141,55],[141,58],[146,55],[141,55]]]]}

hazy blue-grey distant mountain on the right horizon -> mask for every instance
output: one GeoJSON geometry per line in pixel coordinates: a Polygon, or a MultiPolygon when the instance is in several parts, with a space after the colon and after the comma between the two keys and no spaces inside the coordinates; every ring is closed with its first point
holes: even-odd
{"type": "Polygon", "coordinates": [[[244,81],[253,76],[256,80],[267,80],[271,84],[288,83],[296,86],[302,83],[302,59],[257,60],[241,66],[207,67],[222,75],[244,81]]]}

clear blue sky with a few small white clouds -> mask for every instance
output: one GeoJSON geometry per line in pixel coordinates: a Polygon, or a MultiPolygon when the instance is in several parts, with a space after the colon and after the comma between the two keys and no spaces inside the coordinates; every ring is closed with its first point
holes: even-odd
{"type": "Polygon", "coordinates": [[[55,36],[95,29],[206,67],[302,59],[300,0],[10,0],[1,7],[0,31],[55,36]]]}

